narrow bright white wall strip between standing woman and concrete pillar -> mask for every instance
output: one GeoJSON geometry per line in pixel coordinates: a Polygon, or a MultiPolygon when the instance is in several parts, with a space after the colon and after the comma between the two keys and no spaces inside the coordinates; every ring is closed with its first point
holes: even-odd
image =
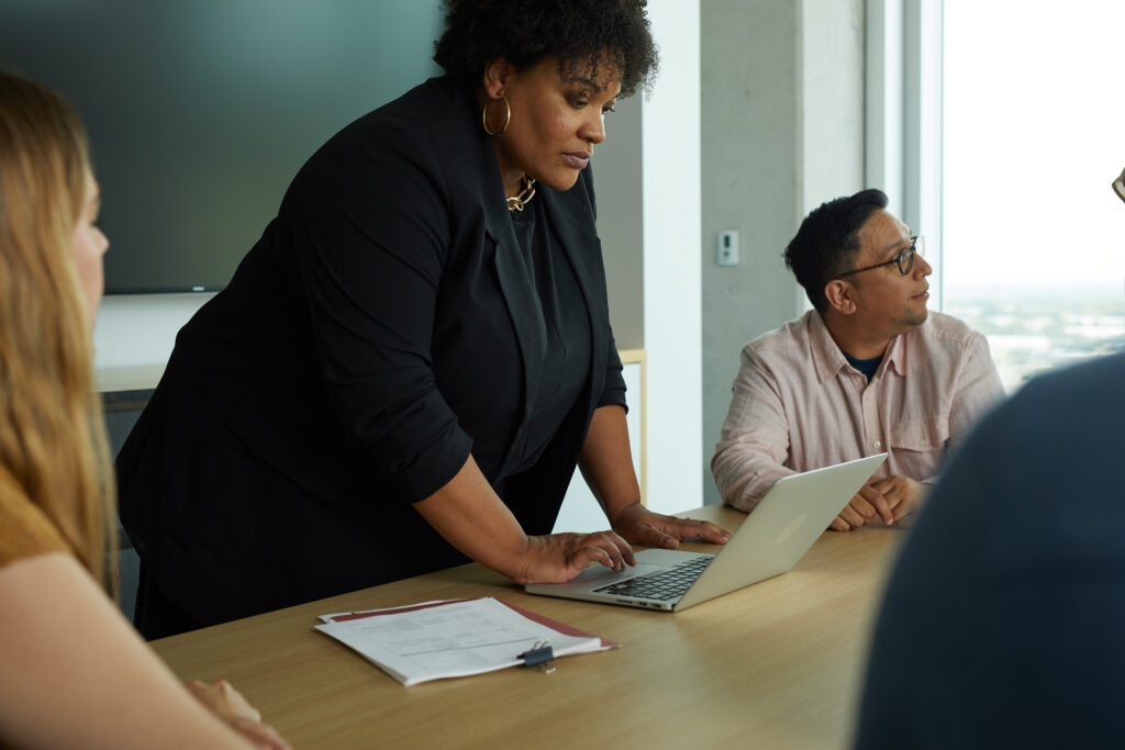
{"type": "Polygon", "coordinates": [[[647,503],[702,505],[700,3],[654,0],[660,78],[641,109],[647,503]]]}

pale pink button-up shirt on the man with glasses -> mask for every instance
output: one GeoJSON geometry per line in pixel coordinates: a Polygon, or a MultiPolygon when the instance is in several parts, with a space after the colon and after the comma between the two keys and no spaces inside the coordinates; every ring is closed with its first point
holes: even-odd
{"type": "Polygon", "coordinates": [[[742,510],[786,475],[883,451],[875,476],[933,482],[1002,396],[988,341],[956,318],[930,313],[892,338],[867,382],[810,310],[742,349],[711,471],[742,510]]]}

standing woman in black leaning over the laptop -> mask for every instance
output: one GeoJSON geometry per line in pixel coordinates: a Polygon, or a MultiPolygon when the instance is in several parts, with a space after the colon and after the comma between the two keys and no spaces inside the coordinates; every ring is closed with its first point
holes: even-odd
{"type": "Polygon", "coordinates": [[[297,174],[118,459],[150,638],[476,560],[516,582],[726,541],[630,461],[588,162],[642,0],[447,0],[447,72],[297,174]],[[614,531],[551,534],[575,466],[614,531]]]}

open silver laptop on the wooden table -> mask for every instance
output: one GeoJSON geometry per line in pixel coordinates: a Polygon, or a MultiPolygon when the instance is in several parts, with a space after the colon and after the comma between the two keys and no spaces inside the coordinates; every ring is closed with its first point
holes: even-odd
{"type": "Polygon", "coordinates": [[[879,453],[778,479],[714,554],[641,550],[632,568],[614,572],[591,566],[566,584],[524,589],[646,609],[686,609],[795,566],[885,460],[886,453],[879,453]]]}

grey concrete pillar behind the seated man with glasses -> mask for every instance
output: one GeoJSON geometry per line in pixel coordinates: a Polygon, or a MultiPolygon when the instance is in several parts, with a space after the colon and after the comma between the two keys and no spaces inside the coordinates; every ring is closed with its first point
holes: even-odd
{"type": "MultiPolygon", "coordinates": [[[[863,0],[704,0],[703,436],[714,452],[742,345],[795,317],[782,252],[820,202],[863,187],[863,0]],[[741,263],[716,262],[737,229],[741,263]]],[[[703,495],[718,503],[710,470],[703,495]]]]}

